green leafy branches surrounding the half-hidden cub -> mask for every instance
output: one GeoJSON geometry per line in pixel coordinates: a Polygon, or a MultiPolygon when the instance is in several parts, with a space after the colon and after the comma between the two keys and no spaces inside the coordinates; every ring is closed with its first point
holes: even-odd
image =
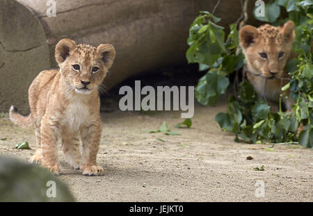
{"type": "Polygon", "coordinates": [[[292,112],[283,112],[281,99],[289,95],[282,94],[277,113],[271,111],[266,100],[257,97],[244,76],[239,82],[239,72],[244,72],[244,56],[239,47],[238,29],[248,19],[247,5],[248,0],[241,1],[243,13],[236,23],[230,24],[230,34],[226,38],[223,26],[217,24],[220,18],[213,13],[201,11],[191,24],[186,58],[188,63],[198,63],[200,71],[207,71],[195,88],[195,97],[203,105],[215,105],[230,84],[230,74],[235,72],[234,96],[228,100],[227,112],[216,115],[220,128],[234,133],[236,141],[298,142],[303,147],[313,147],[313,1],[269,1],[265,5],[265,16],[255,17],[274,26],[292,20],[296,26],[294,52],[298,58],[287,63],[290,82],[282,86],[283,91],[290,90],[290,97],[296,103],[292,112]],[[280,17],[281,10],[286,10],[289,17],[280,17]],[[299,126],[303,127],[300,133],[299,126]]]}

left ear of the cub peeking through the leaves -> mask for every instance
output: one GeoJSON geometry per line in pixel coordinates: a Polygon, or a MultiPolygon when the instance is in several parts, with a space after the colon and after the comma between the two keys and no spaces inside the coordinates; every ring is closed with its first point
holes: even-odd
{"type": "Polygon", "coordinates": [[[257,32],[257,28],[254,26],[246,25],[241,28],[239,31],[239,43],[243,49],[247,49],[250,44],[255,42],[259,37],[259,33],[257,32]]]}

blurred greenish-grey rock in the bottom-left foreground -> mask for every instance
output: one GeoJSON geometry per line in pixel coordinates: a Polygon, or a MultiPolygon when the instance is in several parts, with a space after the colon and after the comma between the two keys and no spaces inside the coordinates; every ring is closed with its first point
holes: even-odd
{"type": "Polygon", "coordinates": [[[74,201],[74,197],[46,169],[0,156],[0,201],[74,201]]]}

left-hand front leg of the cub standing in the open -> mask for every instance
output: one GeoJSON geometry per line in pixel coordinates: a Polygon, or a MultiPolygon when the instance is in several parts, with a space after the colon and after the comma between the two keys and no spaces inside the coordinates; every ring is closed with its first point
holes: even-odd
{"type": "Polygon", "coordinates": [[[58,128],[53,121],[42,119],[40,126],[40,143],[42,150],[42,166],[51,172],[58,174],[60,172],[60,163],[58,163],[58,128]]]}

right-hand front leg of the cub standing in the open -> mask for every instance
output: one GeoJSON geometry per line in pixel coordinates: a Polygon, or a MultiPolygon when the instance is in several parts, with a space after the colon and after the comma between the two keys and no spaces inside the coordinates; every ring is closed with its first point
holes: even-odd
{"type": "Polygon", "coordinates": [[[97,176],[103,174],[103,168],[97,166],[97,152],[99,150],[102,123],[97,122],[81,129],[81,141],[83,142],[83,155],[81,157],[81,170],[85,176],[97,176]]]}

